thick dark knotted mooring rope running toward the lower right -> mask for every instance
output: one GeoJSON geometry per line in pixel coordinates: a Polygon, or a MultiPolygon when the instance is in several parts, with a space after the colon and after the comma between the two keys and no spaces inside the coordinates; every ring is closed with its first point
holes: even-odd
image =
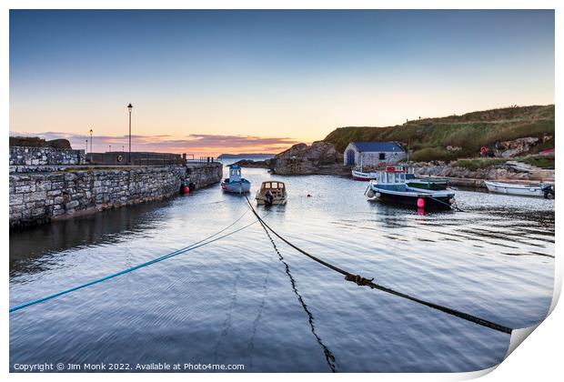
{"type": "MultiPolygon", "coordinates": [[[[245,197],[247,198],[247,196],[245,196],[245,197]]],[[[289,241],[287,241],[286,238],[284,238],[284,237],[278,235],[278,233],[277,233],[274,229],[272,229],[270,226],[268,226],[267,223],[262,219],[262,217],[260,217],[260,216],[257,214],[257,211],[256,211],[255,208],[251,205],[251,203],[250,203],[250,201],[248,200],[248,198],[247,198],[247,204],[248,204],[248,206],[251,208],[251,210],[253,211],[253,214],[255,214],[255,216],[257,216],[257,220],[258,220],[262,225],[266,226],[266,227],[268,228],[268,230],[269,230],[270,232],[272,232],[275,236],[277,236],[280,240],[282,240],[282,241],[283,241],[284,243],[286,243],[288,246],[291,246],[292,248],[296,249],[296,250],[297,250],[298,252],[300,252],[301,254],[303,254],[303,255],[305,255],[305,256],[311,258],[312,260],[317,261],[317,263],[319,263],[319,264],[321,264],[321,265],[323,265],[323,266],[327,266],[328,268],[333,269],[334,271],[340,273],[341,275],[344,275],[344,276],[345,276],[345,279],[346,279],[347,281],[352,281],[352,282],[356,283],[358,286],[369,286],[371,289],[378,289],[378,290],[381,290],[382,292],[386,292],[386,293],[389,293],[389,294],[394,295],[394,296],[407,298],[407,299],[410,300],[410,301],[417,302],[418,304],[424,305],[424,306],[426,306],[426,307],[431,307],[431,308],[433,308],[433,309],[437,309],[437,310],[439,310],[439,311],[441,311],[441,312],[447,313],[448,315],[455,316],[455,317],[459,317],[459,318],[465,319],[465,320],[467,320],[467,321],[469,321],[469,322],[473,322],[473,323],[475,323],[475,324],[478,324],[478,325],[480,325],[480,326],[482,326],[482,327],[489,327],[490,329],[497,330],[497,331],[503,332],[503,333],[507,333],[507,334],[509,334],[509,335],[511,334],[511,331],[513,330],[513,329],[510,328],[510,327],[505,327],[505,326],[503,326],[503,325],[499,325],[499,324],[497,324],[497,323],[495,323],[495,322],[488,321],[487,319],[480,318],[480,317],[476,317],[476,316],[470,315],[470,314],[468,314],[468,313],[464,313],[464,312],[461,312],[461,311],[459,311],[459,310],[452,309],[452,308],[450,308],[450,307],[443,307],[443,306],[441,306],[441,305],[434,304],[434,303],[431,303],[431,302],[422,300],[422,299],[420,299],[420,298],[418,298],[418,297],[412,297],[412,296],[409,296],[409,295],[407,295],[407,294],[405,294],[405,293],[398,292],[397,290],[394,290],[394,289],[389,288],[389,287],[387,287],[387,286],[381,286],[381,285],[379,285],[378,283],[375,283],[375,282],[373,281],[374,278],[366,278],[366,277],[363,277],[363,276],[355,275],[355,274],[352,274],[352,273],[350,273],[350,272],[347,272],[346,270],[341,269],[341,268],[339,268],[339,267],[337,267],[337,266],[334,266],[334,265],[332,265],[332,264],[329,264],[329,263],[327,263],[326,261],[323,261],[323,260],[321,260],[320,258],[318,258],[318,257],[316,257],[316,256],[313,256],[313,255],[308,254],[305,250],[303,250],[303,249],[301,249],[301,248],[295,246],[294,244],[292,244],[292,243],[290,243],[289,241]]]]}

